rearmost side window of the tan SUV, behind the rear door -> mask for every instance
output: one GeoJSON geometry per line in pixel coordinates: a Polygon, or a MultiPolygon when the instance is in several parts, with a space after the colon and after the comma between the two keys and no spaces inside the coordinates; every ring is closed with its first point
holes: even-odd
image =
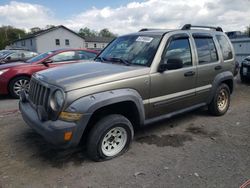
{"type": "Polygon", "coordinates": [[[232,59],[233,58],[232,48],[226,37],[223,35],[216,35],[216,38],[220,44],[220,49],[223,55],[223,59],[224,60],[232,59]]]}

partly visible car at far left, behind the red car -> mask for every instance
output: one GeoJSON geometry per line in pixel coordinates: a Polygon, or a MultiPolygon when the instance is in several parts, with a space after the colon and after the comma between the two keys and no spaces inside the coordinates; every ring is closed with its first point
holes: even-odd
{"type": "Polygon", "coordinates": [[[0,53],[0,64],[13,63],[17,61],[27,61],[37,56],[38,53],[25,50],[6,50],[0,53]]]}

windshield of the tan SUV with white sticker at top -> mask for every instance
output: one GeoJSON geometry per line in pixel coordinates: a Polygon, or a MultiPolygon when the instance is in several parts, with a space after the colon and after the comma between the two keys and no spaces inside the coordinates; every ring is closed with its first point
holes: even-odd
{"type": "Polygon", "coordinates": [[[96,61],[123,62],[130,65],[150,66],[161,36],[128,35],[114,40],[96,58],[96,61]]]}

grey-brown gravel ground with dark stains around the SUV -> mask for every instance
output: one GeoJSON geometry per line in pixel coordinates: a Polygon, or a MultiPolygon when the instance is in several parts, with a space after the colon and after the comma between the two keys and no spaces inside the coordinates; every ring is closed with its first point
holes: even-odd
{"type": "Polygon", "coordinates": [[[0,98],[0,187],[240,187],[250,179],[250,86],[222,117],[199,109],[136,132],[130,150],[95,163],[82,148],[52,149],[0,98]]]}

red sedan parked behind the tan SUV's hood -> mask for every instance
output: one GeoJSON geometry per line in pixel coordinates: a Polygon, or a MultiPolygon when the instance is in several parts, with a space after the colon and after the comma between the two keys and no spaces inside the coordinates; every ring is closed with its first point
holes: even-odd
{"type": "Polygon", "coordinates": [[[33,73],[69,63],[94,59],[97,51],[86,49],[60,49],[40,54],[26,62],[0,65],[0,94],[19,98],[21,90],[28,92],[33,73]]]}

